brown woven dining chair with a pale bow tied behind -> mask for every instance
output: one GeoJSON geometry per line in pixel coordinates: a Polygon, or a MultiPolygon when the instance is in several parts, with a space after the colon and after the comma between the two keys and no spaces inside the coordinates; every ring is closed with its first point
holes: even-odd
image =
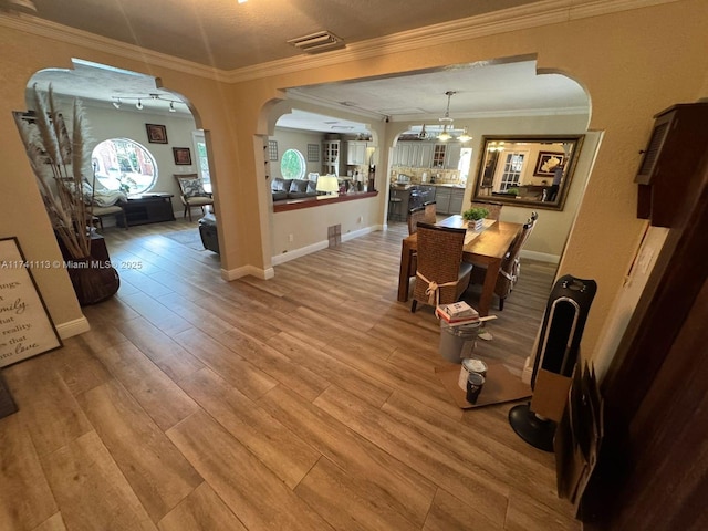
{"type": "Polygon", "coordinates": [[[417,269],[410,311],[418,302],[436,306],[459,300],[469,285],[472,264],[462,262],[466,229],[419,222],[417,269]]]}

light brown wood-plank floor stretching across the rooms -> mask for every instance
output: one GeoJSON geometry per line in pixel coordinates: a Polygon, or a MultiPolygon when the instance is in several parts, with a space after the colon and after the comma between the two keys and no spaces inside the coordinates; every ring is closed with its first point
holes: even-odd
{"type": "MultiPolygon", "coordinates": [[[[107,229],[122,287],[91,332],[3,369],[1,530],[580,529],[511,405],[437,379],[437,321],[396,302],[403,225],[233,282],[185,228],[107,229]]],[[[552,275],[523,262],[480,354],[521,369],[552,275]]]]}

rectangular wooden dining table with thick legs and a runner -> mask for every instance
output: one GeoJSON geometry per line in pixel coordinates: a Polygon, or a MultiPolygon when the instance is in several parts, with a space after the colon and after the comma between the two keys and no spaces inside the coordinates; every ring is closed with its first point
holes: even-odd
{"type": "MultiPolygon", "coordinates": [[[[467,233],[465,235],[465,244],[462,248],[462,260],[470,262],[473,266],[478,264],[487,268],[477,311],[480,316],[489,315],[501,261],[511,247],[511,242],[521,232],[523,225],[485,219],[480,230],[472,230],[468,228],[467,221],[460,215],[454,215],[449,218],[445,218],[436,225],[440,227],[467,229],[467,233]]],[[[415,232],[403,239],[400,249],[400,271],[398,273],[398,301],[400,302],[406,302],[408,300],[410,277],[415,275],[415,271],[410,271],[410,263],[417,249],[417,243],[418,240],[415,232]]]]}

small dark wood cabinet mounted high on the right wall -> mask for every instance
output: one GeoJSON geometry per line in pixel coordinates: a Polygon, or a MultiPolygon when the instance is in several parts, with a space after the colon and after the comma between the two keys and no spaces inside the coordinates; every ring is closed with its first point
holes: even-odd
{"type": "Polygon", "coordinates": [[[698,186],[699,155],[708,150],[708,102],[674,105],[654,118],[635,178],[637,217],[656,227],[675,227],[681,198],[698,186]]]}

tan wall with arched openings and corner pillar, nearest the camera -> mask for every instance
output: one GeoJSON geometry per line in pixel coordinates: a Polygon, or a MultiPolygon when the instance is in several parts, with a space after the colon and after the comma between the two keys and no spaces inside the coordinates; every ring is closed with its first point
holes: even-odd
{"type": "MultiPolygon", "coordinates": [[[[0,197],[1,236],[19,236],[29,259],[59,252],[9,113],[24,107],[24,85],[33,72],[69,67],[71,56],[159,76],[164,86],[190,98],[197,126],[210,132],[222,268],[229,271],[263,270],[270,261],[266,248],[271,214],[262,150],[269,131],[263,110],[282,97],[281,88],[535,54],[540,69],[570,75],[585,87],[592,105],[590,128],[603,133],[559,271],[597,281],[583,339],[583,353],[591,355],[638,246],[643,222],[635,216],[633,175],[652,115],[707,95],[707,25],[708,2],[684,0],[542,28],[460,37],[455,45],[408,51],[396,46],[399,51],[351,55],[352,60],[345,50],[336,64],[242,82],[235,74],[229,84],[209,80],[206,70],[200,76],[191,66],[181,70],[195,73],[168,69],[167,61],[152,60],[150,54],[126,59],[127,54],[102,52],[101,46],[67,44],[6,24],[0,27],[0,137],[7,176],[0,197]]],[[[375,210],[383,221],[383,200],[375,210]]],[[[38,282],[55,322],[81,316],[65,272],[43,271],[38,282]]]]}

